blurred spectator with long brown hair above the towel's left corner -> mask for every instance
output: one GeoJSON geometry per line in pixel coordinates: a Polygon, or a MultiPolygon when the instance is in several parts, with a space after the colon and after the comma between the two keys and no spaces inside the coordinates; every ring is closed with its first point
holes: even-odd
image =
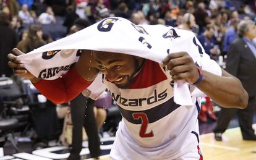
{"type": "Polygon", "coordinates": [[[30,25],[27,37],[17,44],[17,48],[23,53],[29,53],[33,49],[45,45],[42,35],[42,28],[39,25],[30,25]]]}

